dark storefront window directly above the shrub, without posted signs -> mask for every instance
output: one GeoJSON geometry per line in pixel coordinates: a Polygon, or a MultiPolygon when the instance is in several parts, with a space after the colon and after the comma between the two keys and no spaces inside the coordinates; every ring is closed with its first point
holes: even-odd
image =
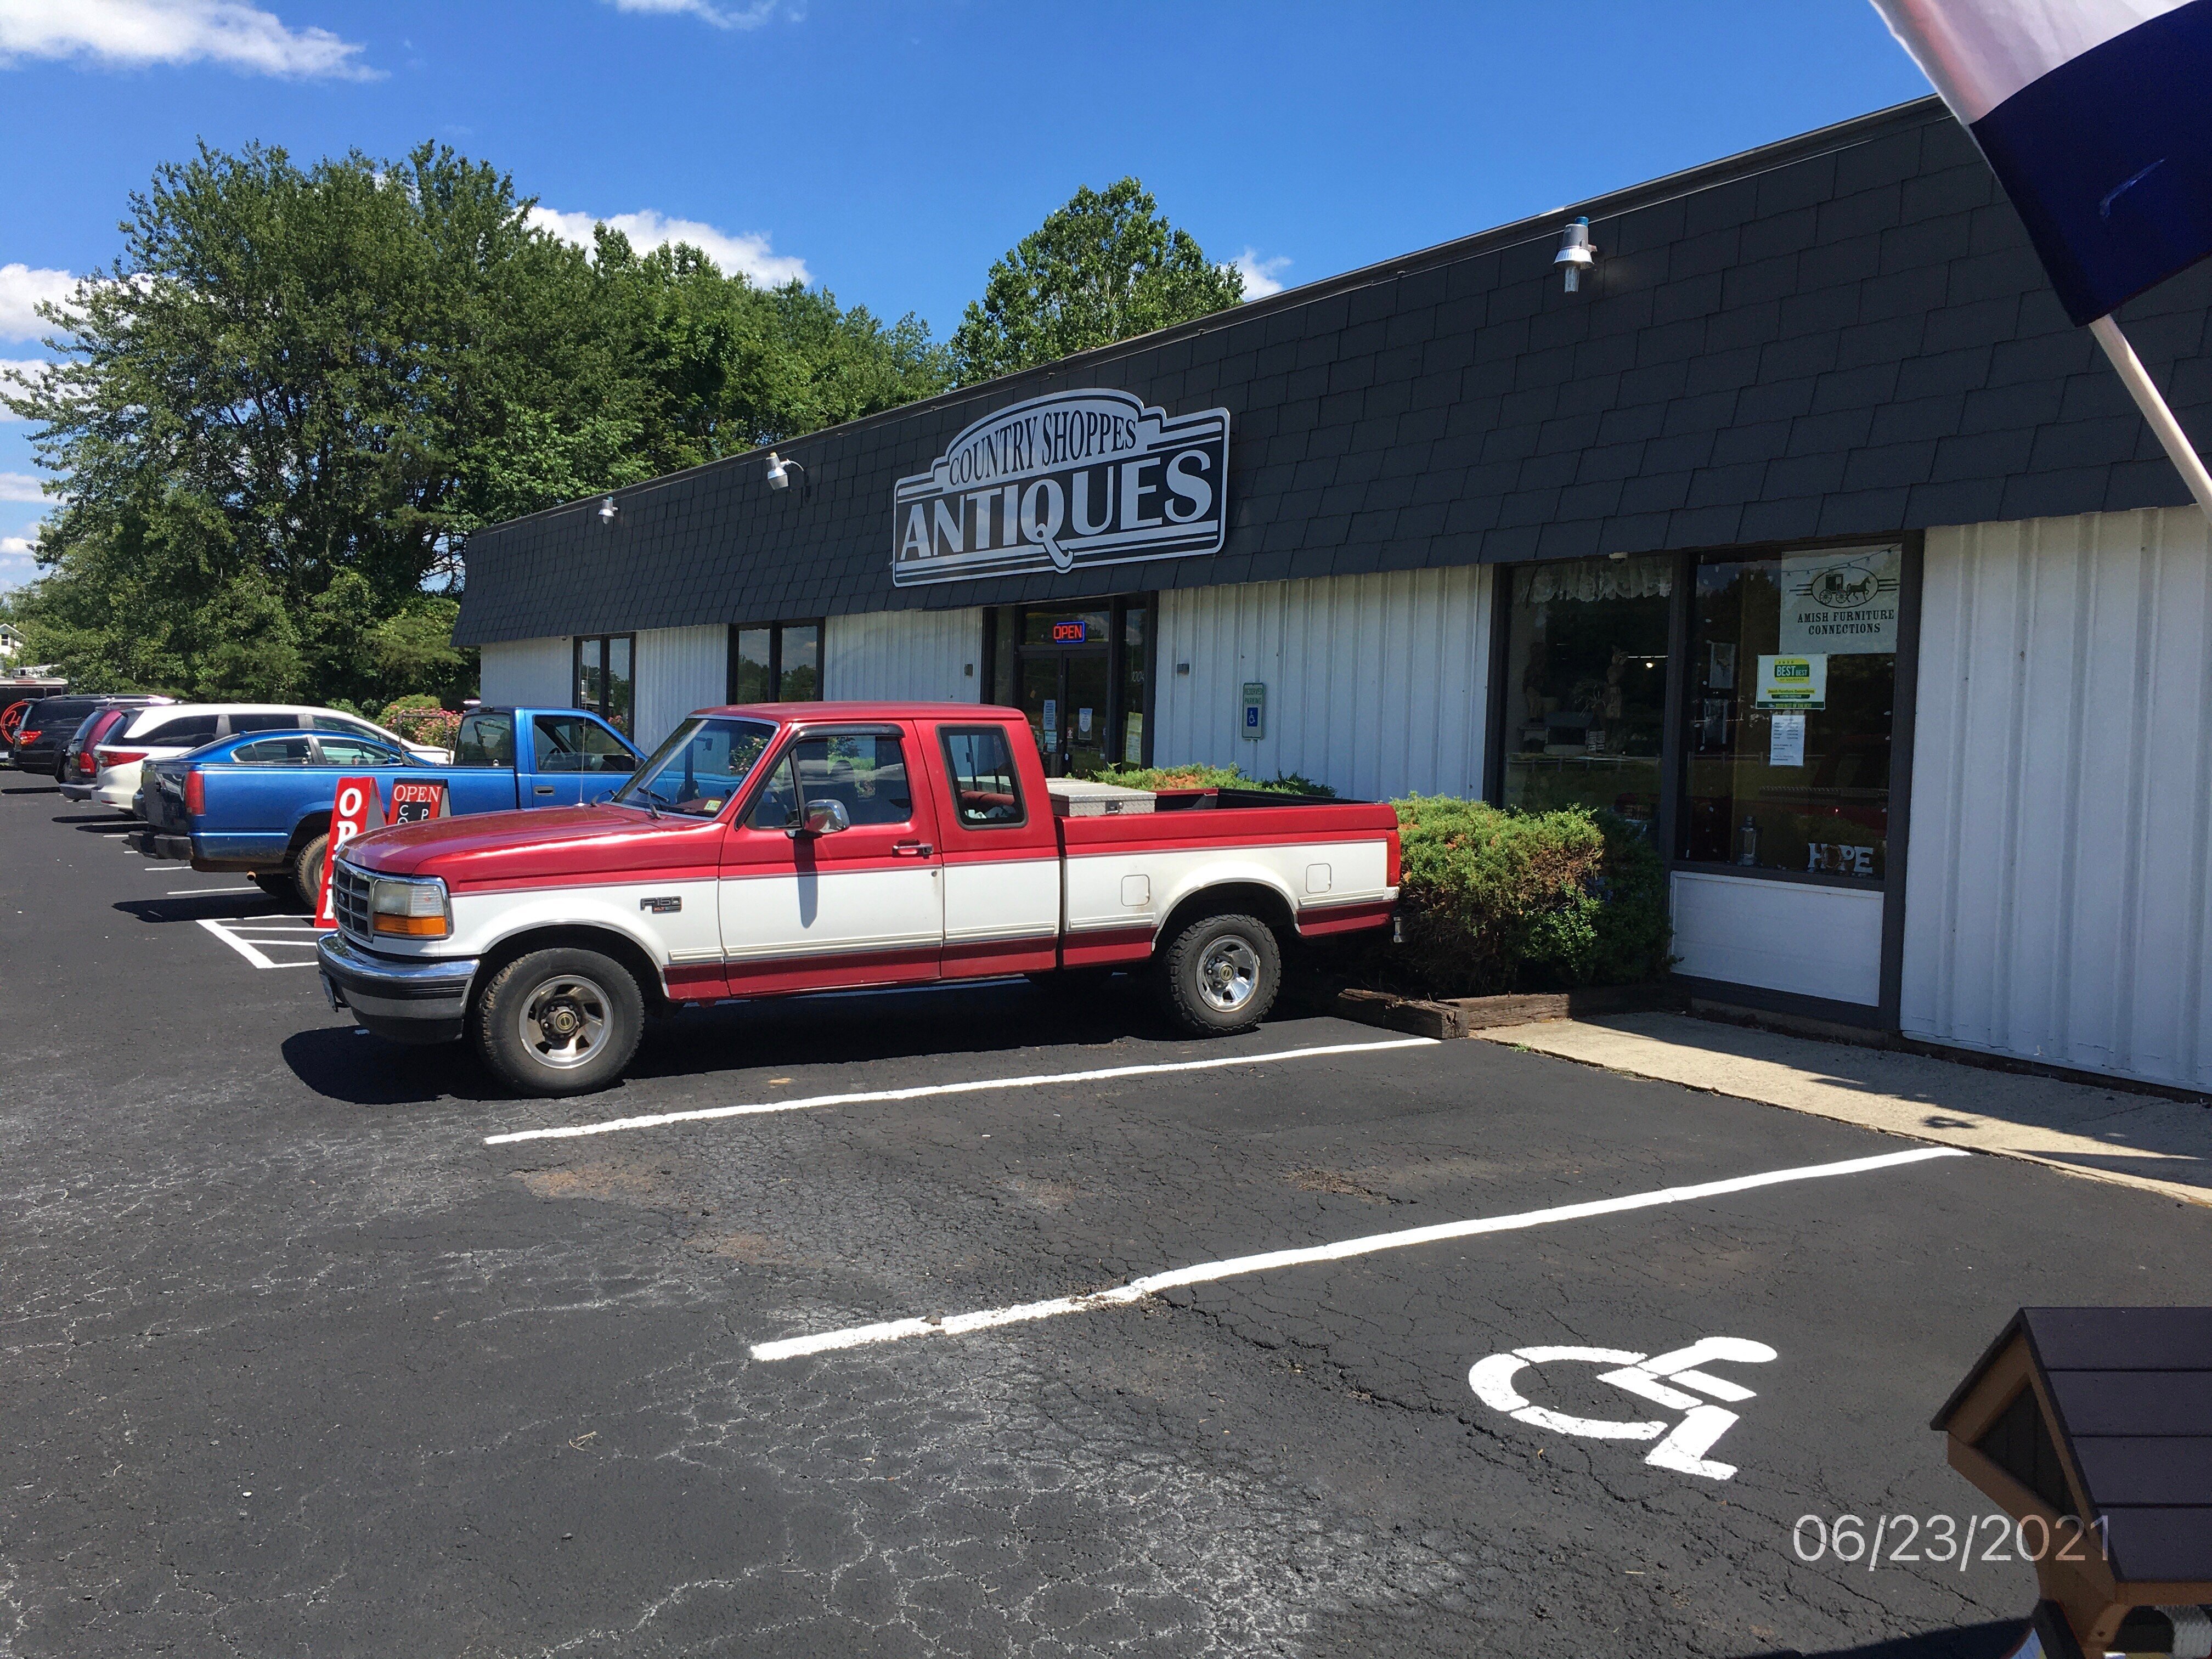
{"type": "Polygon", "coordinates": [[[1674,560],[1513,571],[1504,803],[1606,807],[1657,836],[1674,560]]]}

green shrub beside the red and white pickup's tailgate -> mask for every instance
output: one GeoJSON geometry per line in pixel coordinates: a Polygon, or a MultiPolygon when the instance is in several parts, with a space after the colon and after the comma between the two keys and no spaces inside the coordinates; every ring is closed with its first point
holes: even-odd
{"type": "Polygon", "coordinates": [[[1396,803],[1405,945],[1369,971],[1427,995],[1628,984],[1666,971],[1666,869],[1610,812],[1396,803]]]}

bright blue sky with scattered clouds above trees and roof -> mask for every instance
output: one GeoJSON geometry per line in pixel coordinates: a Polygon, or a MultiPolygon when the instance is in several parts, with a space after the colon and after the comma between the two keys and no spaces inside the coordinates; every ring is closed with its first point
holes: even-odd
{"type": "MultiPolygon", "coordinates": [[[[0,0],[0,361],[195,139],[442,139],[573,234],[677,223],[942,338],[1079,184],[1265,292],[1924,91],[1867,0],[0,0]]],[[[0,420],[0,586],[31,473],[0,420]]]]}

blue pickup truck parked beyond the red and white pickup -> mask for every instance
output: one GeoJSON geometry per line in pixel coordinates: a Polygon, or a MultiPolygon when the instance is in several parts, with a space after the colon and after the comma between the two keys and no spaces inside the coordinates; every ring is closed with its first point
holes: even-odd
{"type": "Polygon", "coordinates": [[[254,732],[148,761],[144,852],[192,869],[248,872],[285,902],[323,896],[338,779],[374,776],[389,821],[394,783],[445,783],[453,814],[573,807],[619,785],[644,757],[582,708],[478,708],[451,765],[418,761],[358,732],[254,732]]]}

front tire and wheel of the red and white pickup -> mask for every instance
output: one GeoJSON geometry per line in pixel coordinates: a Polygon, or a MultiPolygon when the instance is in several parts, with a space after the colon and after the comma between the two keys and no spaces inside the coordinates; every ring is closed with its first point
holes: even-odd
{"type": "Polygon", "coordinates": [[[469,1037],[524,1095],[588,1095],[622,1077],[646,1029],[646,998],[611,956],[531,951],[491,975],[469,1037]]]}

